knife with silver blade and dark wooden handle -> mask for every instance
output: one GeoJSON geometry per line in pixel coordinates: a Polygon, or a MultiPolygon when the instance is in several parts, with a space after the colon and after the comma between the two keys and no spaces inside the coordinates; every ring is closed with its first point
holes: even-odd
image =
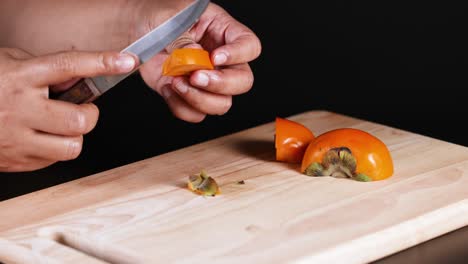
{"type": "MultiPolygon", "coordinates": [[[[209,2],[210,0],[195,0],[121,52],[128,52],[138,56],[141,66],[195,24],[209,2]]],[[[52,98],[76,104],[92,102],[137,70],[138,67],[132,72],[122,75],[85,78],[67,91],[52,96],[52,98]]]]}

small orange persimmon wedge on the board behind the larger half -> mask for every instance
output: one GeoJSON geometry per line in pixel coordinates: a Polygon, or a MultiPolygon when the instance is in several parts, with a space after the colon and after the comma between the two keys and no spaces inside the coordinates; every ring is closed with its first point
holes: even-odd
{"type": "Polygon", "coordinates": [[[304,125],[277,117],[275,120],[276,160],[288,163],[301,163],[309,143],[315,138],[304,125]]]}

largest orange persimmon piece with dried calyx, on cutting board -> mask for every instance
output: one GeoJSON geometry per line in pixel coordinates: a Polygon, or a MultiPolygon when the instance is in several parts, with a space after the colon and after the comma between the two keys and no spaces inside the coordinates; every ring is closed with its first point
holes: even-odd
{"type": "Polygon", "coordinates": [[[301,171],[309,176],[377,181],[393,175],[393,160],[387,146],[372,134],[339,128],[317,136],[308,145],[301,171]]]}

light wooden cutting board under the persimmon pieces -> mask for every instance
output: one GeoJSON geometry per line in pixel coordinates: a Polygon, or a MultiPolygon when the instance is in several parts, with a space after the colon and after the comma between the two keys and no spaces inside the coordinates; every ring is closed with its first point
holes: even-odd
{"type": "Polygon", "coordinates": [[[307,177],[274,160],[271,122],[1,202],[0,260],[364,263],[468,224],[468,148],[326,111],[289,118],[372,133],[394,176],[307,177]],[[221,195],[185,188],[201,169],[221,195]]]}

